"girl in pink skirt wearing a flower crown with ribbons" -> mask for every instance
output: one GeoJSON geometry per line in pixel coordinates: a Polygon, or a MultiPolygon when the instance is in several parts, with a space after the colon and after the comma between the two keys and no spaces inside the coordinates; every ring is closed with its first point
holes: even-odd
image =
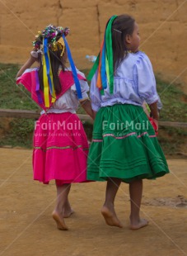
{"type": "Polygon", "coordinates": [[[34,50],[16,75],[32,99],[43,109],[35,122],[34,179],[44,184],[55,180],[57,202],[53,218],[59,230],[68,230],[64,218],[71,216],[68,201],[71,183],[86,182],[88,144],[76,115],[79,102],[93,117],[86,78],[73,64],[66,36],[69,29],[47,26],[33,42],[34,50]],[[71,68],[66,68],[66,60],[71,68]],[[30,66],[39,62],[39,67],[30,66]]]}

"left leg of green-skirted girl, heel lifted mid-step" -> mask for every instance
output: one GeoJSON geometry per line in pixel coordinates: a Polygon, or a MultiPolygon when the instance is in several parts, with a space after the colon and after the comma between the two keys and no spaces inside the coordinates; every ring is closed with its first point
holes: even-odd
{"type": "Polygon", "coordinates": [[[109,178],[105,192],[105,203],[101,209],[101,213],[105,218],[106,224],[122,228],[123,225],[120,223],[115,213],[115,196],[120,183],[121,179],[119,178],[109,178]]]}

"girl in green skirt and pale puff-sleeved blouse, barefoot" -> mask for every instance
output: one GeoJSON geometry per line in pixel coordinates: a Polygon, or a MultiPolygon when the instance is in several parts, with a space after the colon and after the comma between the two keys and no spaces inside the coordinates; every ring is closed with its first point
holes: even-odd
{"type": "Polygon", "coordinates": [[[91,69],[91,105],[96,112],[87,179],[107,181],[101,213],[122,227],[115,213],[121,182],[129,183],[130,229],[148,224],[139,216],[143,178],[169,173],[155,130],[143,111],[146,101],[158,130],[157,88],[152,64],[142,51],[138,24],[129,15],[107,22],[101,52],[91,69]]]}

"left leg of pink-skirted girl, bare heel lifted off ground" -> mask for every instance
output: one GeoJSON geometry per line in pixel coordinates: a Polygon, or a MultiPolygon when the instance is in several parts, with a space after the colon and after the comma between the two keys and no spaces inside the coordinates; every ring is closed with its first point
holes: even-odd
{"type": "Polygon", "coordinates": [[[68,230],[68,226],[65,224],[63,220],[63,210],[64,210],[64,206],[68,202],[68,193],[70,191],[71,184],[58,185],[56,183],[56,187],[57,187],[57,201],[56,201],[56,206],[54,208],[52,216],[56,221],[57,227],[59,230],[68,230]]]}

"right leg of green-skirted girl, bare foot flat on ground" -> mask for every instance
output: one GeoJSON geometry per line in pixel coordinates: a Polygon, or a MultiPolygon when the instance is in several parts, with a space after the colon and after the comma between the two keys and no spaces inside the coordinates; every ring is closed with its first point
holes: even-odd
{"type": "Polygon", "coordinates": [[[140,216],[139,216],[142,195],[143,195],[143,180],[137,180],[137,181],[133,181],[132,183],[129,183],[129,193],[130,193],[130,205],[131,205],[130,229],[138,230],[148,224],[147,220],[140,219],[140,216]]]}

